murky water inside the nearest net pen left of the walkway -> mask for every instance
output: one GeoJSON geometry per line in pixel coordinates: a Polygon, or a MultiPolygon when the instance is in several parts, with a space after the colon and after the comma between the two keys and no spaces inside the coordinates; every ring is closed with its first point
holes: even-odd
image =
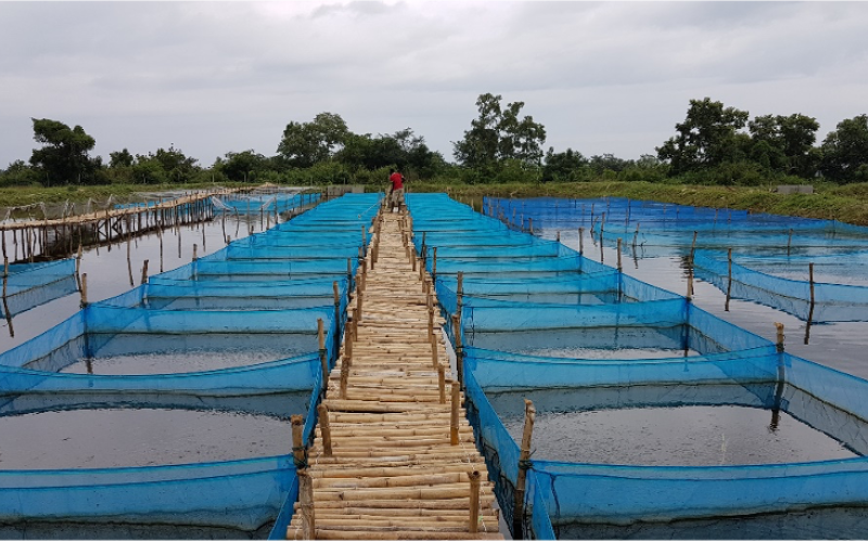
{"type": "Polygon", "coordinates": [[[285,420],[166,409],[0,416],[0,435],[3,470],[181,465],[281,455],[292,446],[285,420]]]}

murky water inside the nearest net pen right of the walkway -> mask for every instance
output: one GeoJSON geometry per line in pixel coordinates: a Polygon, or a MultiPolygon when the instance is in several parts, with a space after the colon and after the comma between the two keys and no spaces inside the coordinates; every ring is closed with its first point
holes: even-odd
{"type": "MultiPolygon", "coordinates": [[[[857,456],[786,412],[745,406],[678,406],[542,413],[535,456],[604,465],[765,465],[857,456]]],[[[505,421],[521,442],[523,420],[505,421]]]]}

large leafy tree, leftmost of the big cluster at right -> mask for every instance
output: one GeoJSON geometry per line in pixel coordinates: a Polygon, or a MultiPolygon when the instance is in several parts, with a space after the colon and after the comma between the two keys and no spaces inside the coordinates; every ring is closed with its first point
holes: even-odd
{"type": "Polygon", "coordinates": [[[746,111],[725,107],[710,98],[691,100],[685,121],[675,125],[678,133],[656,149],[658,157],[669,162],[673,175],[741,162],[750,138],[739,130],[748,117],[746,111]]]}

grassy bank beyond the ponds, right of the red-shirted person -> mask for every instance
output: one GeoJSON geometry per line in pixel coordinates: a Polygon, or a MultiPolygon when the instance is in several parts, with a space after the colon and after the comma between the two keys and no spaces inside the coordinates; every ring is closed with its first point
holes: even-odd
{"type": "Polygon", "coordinates": [[[413,182],[411,192],[448,192],[463,201],[500,197],[629,197],[654,202],[728,207],[806,218],[834,219],[868,225],[868,184],[818,185],[815,194],[781,195],[767,189],[698,186],[649,182],[583,182],[546,184],[442,184],[413,182]]]}

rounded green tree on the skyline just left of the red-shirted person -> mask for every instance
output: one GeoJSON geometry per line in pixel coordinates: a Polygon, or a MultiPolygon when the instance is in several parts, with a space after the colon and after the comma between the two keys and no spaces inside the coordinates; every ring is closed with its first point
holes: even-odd
{"type": "Polygon", "coordinates": [[[308,168],[330,159],[343,145],[349,130],[340,115],[320,113],[311,122],[286,125],[278,145],[278,154],[293,167],[308,168]]]}

